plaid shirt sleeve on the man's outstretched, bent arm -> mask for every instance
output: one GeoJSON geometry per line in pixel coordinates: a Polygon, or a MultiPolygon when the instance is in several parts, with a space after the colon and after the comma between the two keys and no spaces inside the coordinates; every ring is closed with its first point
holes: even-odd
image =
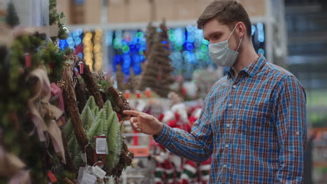
{"type": "Polygon", "coordinates": [[[164,124],[161,135],[154,136],[154,140],[172,153],[194,162],[208,160],[213,150],[209,103],[208,98],[203,102],[200,117],[192,125],[191,133],[164,124]]]}

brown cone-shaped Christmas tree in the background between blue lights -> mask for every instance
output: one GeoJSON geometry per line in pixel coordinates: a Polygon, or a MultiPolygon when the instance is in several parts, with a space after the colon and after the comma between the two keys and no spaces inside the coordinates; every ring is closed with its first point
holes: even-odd
{"type": "MultiPolygon", "coordinates": [[[[165,21],[160,25],[161,31],[157,31],[152,40],[147,42],[153,43],[150,53],[147,56],[147,66],[140,82],[140,90],[150,87],[158,95],[167,98],[170,91],[170,84],[175,81],[172,72],[173,68],[170,65],[170,50],[168,40],[168,29],[165,21]]],[[[150,37],[151,38],[151,37],[150,37]]],[[[149,48],[148,48],[149,49],[149,48]]]]}

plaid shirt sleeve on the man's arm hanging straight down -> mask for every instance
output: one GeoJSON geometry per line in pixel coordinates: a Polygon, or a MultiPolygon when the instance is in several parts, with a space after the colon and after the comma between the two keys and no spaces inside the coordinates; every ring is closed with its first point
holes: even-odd
{"type": "Polygon", "coordinates": [[[275,103],[279,168],[275,183],[301,183],[307,141],[306,95],[294,76],[281,82],[275,103]]]}

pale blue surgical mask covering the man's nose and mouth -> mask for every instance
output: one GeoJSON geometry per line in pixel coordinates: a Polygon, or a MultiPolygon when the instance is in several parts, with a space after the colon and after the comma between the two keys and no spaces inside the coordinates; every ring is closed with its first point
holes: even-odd
{"type": "MultiPolygon", "coordinates": [[[[232,67],[238,58],[238,49],[240,48],[240,45],[238,45],[238,49],[236,49],[236,51],[231,50],[228,45],[228,40],[233,35],[235,29],[236,26],[227,40],[220,43],[212,43],[209,45],[210,57],[212,61],[217,64],[217,66],[232,67]]],[[[242,38],[240,39],[240,44],[241,43],[242,38]]]]}

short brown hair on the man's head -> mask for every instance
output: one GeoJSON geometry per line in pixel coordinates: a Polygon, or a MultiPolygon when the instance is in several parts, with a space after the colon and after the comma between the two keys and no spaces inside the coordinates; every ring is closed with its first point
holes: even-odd
{"type": "MultiPolygon", "coordinates": [[[[236,0],[216,0],[210,3],[200,17],[198,17],[198,29],[203,29],[203,26],[208,21],[216,18],[222,24],[230,27],[236,22],[243,22],[247,28],[247,36],[251,37],[252,24],[249,20],[249,15],[239,1],[236,0]]],[[[231,28],[232,29],[232,28],[231,28]]]]}

